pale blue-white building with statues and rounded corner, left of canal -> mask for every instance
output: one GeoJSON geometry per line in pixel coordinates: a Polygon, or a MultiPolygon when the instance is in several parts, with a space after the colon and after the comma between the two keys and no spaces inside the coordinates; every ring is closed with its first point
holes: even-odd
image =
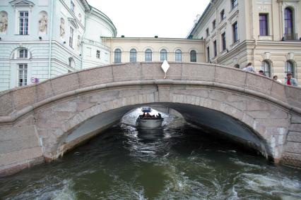
{"type": "Polygon", "coordinates": [[[85,0],[1,0],[0,91],[108,64],[101,37],[116,35],[85,0]]]}

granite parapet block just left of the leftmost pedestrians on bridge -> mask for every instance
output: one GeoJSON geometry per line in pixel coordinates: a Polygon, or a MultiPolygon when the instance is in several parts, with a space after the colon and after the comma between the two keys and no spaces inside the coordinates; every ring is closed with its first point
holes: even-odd
{"type": "Polygon", "coordinates": [[[216,82],[243,87],[246,77],[247,73],[242,70],[216,66],[216,82]]]}

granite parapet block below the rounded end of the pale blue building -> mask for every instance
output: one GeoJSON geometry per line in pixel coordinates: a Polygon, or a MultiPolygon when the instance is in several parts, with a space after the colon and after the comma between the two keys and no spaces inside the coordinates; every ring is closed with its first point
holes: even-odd
{"type": "Polygon", "coordinates": [[[81,88],[113,82],[112,65],[83,70],[78,77],[81,88]]]}

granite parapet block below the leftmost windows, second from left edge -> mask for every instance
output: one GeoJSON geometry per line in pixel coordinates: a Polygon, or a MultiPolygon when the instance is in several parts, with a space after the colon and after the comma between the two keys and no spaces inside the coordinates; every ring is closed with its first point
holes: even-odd
{"type": "Polygon", "coordinates": [[[35,103],[35,87],[21,87],[13,91],[13,104],[16,110],[35,103]]]}

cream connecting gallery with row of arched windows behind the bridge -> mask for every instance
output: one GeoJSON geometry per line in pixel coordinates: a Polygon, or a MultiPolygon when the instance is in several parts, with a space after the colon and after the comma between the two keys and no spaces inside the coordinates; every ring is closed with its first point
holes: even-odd
{"type": "Polygon", "coordinates": [[[111,49],[110,63],[205,61],[203,39],[115,37],[102,40],[111,49]]]}

